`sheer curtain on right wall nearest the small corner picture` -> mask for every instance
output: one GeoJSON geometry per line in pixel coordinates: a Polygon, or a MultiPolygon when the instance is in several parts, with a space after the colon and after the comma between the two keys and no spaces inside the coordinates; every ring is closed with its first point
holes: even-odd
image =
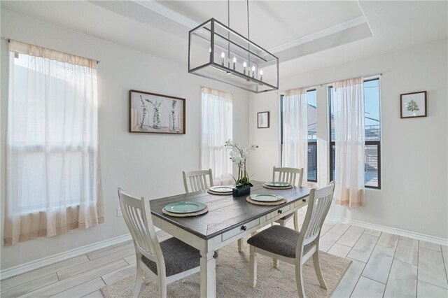
{"type": "Polygon", "coordinates": [[[282,166],[303,168],[306,181],[308,161],[307,89],[288,90],[283,97],[282,166]]]}

